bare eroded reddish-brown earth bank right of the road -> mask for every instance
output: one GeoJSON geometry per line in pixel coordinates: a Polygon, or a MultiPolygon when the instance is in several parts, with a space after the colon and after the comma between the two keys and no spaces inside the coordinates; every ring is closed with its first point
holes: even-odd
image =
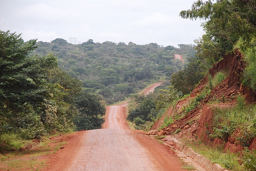
{"type": "MultiPolygon", "coordinates": [[[[244,71],[245,64],[243,61],[243,56],[236,50],[234,52],[228,53],[224,56],[222,60],[215,63],[209,70],[209,74],[212,77],[219,71],[229,71],[229,75],[222,81],[220,86],[215,87],[211,90],[210,94],[207,95],[203,100],[201,100],[201,105],[194,108],[191,112],[187,113],[179,120],[175,120],[173,124],[162,129],[167,134],[172,134],[177,129],[180,129],[180,133],[174,134],[173,136],[177,139],[180,138],[197,138],[202,140],[209,145],[219,145],[223,142],[220,139],[210,139],[209,134],[212,133],[212,121],[214,117],[213,107],[227,108],[236,105],[235,95],[241,94],[245,97],[247,103],[256,102],[256,93],[252,92],[249,88],[243,87],[241,85],[240,76],[244,71]],[[223,102],[223,97],[225,102],[223,102]],[[210,100],[219,99],[221,102],[218,104],[208,104],[210,100]]],[[[199,85],[191,92],[190,96],[180,100],[176,103],[174,108],[167,110],[166,114],[169,116],[182,115],[184,113],[184,107],[191,103],[191,100],[200,94],[201,90],[208,86],[208,76],[202,79],[199,85]]],[[[163,123],[165,115],[159,121],[155,123],[152,129],[157,129],[163,123]]],[[[229,136],[227,141],[225,141],[224,149],[228,149],[230,152],[239,152],[243,147],[236,143],[235,136],[238,134],[239,130],[234,136],[229,136]]],[[[250,142],[249,149],[256,149],[256,139],[252,139],[250,142]]]]}

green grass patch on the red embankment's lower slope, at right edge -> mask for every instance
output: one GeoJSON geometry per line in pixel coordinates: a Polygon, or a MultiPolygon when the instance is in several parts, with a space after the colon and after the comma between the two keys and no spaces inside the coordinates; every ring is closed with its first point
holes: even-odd
{"type": "Polygon", "coordinates": [[[234,108],[215,108],[212,126],[213,132],[209,135],[210,138],[227,140],[229,135],[235,133],[235,130],[240,130],[236,138],[237,142],[248,147],[250,140],[256,136],[256,107],[255,105],[244,107],[240,104],[234,108]]]}

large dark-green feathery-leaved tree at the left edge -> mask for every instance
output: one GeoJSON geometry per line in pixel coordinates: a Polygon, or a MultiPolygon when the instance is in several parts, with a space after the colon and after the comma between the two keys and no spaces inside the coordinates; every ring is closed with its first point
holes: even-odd
{"type": "Polygon", "coordinates": [[[0,109],[19,112],[22,105],[30,103],[35,110],[46,97],[44,86],[48,69],[57,67],[53,55],[39,58],[29,56],[35,49],[36,40],[26,43],[20,34],[0,32],[0,109]]]}

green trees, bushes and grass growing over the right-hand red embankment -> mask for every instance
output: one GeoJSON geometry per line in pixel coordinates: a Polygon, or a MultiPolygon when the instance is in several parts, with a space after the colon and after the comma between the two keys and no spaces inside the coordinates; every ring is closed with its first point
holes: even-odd
{"type": "MultiPolygon", "coordinates": [[[[162,88],[162,90],[158,91],[159,94],[156,95],[156,107],[154,108],[156,114],[152,119],[152,123],[157,121],[156,116],[160,115],[163,123],[159,129],[172,124],[193,109],[201,108],[201,100],[204,102],[204,98],[209,97],[213,89],[218,88],[218,86],[226,86],[222,84],[222,81],[229,75],[226,68],[223,68],[223,71],[217,72],[214,76],[209,74],[209,69],[212,64],[220,61],[228,52],[239,50],[242,53],[243,61],[241,60],[240,62],[245,64],[246,67],[243,73],[237,74],[237,77],[240,78],[239,83],[243,87],[249,88],[251,92],[256,92],[255,6],[255,0],[217,0],[216,2],[212,0],[197,0],[192,4],[190,10],[180,12],[180,16],[185,19],[205,20],[202,23],[205,32],[201,38],[195,40],[195,50],[197,51],[195,57],[187,58],[188,63],[186,66],[170,76],[171,85],[169,85],[169,89],[162,88]],[[200,90],[200,93],[195,98],[187,99],[189,104],[184,105],[180,113],[172,116],[165,114],[168,108],[175,107],[177,100],[189,97],[190,92],[205,77],[206,81],[208,81],[207,85],[203,90],[200,90]]],[[[230,170],[256,170],[255,151],[248,149],[250,142],[256,137],[255,104],[247,104],[243,94],[233,94],[228,99],[225,95],[221,97],[214,96],[211,97],[207,104],[214,104],[212,131],[206,132],[210,139],[217,138],[225,144],[229,137],[235,136],[236,143],[244,147],[244,150],[240,154],[231,154],[221,147],[205,146],[197,151],[212,162],[216,162],[230,170]],[[219,103],[235,104],[228,108],[218,108],[219,103]]],[[[203,143],[200,142],[200,137],[197,136],[195,141],[199,144],[194,144],[194,142],[189,142],[189,144],[193,149],[198,149],[197,147],[203,143]]]]}

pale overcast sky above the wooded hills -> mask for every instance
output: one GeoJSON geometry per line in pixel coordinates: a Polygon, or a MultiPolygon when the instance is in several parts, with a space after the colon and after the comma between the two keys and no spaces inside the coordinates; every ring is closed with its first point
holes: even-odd
{"type": "Polygon", "coordinates": [[[179,17],[193,0],[0,0],[0,30],[22,33],[24,41],[77,37],[76,43],[193,43],[200,20],[179,17]]]}

